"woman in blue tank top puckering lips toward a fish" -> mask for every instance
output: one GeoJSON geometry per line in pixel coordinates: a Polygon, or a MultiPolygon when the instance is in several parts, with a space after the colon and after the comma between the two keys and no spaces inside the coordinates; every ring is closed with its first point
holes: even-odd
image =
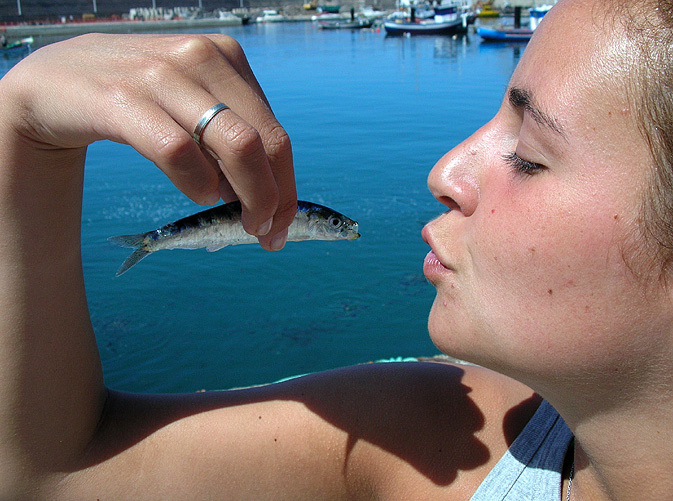
{"type": "Polygon", "coordinates": [[[235,392],[104,387],[79,210],[86,145],[108,138],[197,202],[240,198],[246,230],[283,246],[289,142],[240,48],[88,36],[17,65],[0,81],[0,497],[670,498],[671,10],[559,2],[497,115],[430,173],[451,209],[423,231],[430,333],[487,368],[235,392]]]}

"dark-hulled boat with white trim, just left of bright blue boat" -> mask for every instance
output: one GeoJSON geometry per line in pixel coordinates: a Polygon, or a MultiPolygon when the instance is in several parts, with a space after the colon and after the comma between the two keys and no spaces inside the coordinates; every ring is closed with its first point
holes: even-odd
{"type": "MultiPolygon", "coordinates": [[[[465,33],[467,26],[474,22],[474,16],[467,10],[467,2],[453,0],[440,2],[433,9],[431,17],[416,16],[416,6],[410,6],[409,17],[393,14],[383,27],[388,35],[454,35],[465,33]]],[[[421,12],[424,11],[421,6],[421,12]]]]}

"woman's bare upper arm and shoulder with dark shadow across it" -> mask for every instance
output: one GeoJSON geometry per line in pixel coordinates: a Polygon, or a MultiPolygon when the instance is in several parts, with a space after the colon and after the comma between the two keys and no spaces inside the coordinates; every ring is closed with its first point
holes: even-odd
{"type": "Polygon", "coordinates": [[[538,404],[491,371],[436,362],[365,364],[227,392],[112,393],[61,494],[469,498],[538,404]]]}

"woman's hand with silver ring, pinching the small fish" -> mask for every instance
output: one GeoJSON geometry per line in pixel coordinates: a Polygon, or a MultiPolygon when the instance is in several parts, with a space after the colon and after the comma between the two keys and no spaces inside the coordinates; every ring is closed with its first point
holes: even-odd
{"type": "Polygon", "coordinates": [[[51,156],[131,145],[200,204],[240,199],[243,225],[282,248],[296,210],[290,141],[236,41],[223,35],[85,35],[34,52],[4,78],[5,117],[51,156]],[[203,131],[192,133],[217,103],[203,131]]]}

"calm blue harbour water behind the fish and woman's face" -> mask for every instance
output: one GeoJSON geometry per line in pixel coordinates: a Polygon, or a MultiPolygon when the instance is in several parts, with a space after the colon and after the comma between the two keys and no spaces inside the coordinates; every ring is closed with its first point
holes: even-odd
{"type": "MultiPolygon", "coordinates": [[[[195,391],[437,353],[423,225],[444,210],[434,162],[496,111],[523,46],[388,38],[310,23],[226,28],[293,140],[300,198],[360,223],[352,242],[154,254],[120,278],[136,233],[200,210],[131,148],[89,149],[82,246],[112,387],[195,391]]],[[[39,43],[39,40],[38,40],[39,43]]],[[[0,58],[0,74],[16,61],[0,58]]]]}

